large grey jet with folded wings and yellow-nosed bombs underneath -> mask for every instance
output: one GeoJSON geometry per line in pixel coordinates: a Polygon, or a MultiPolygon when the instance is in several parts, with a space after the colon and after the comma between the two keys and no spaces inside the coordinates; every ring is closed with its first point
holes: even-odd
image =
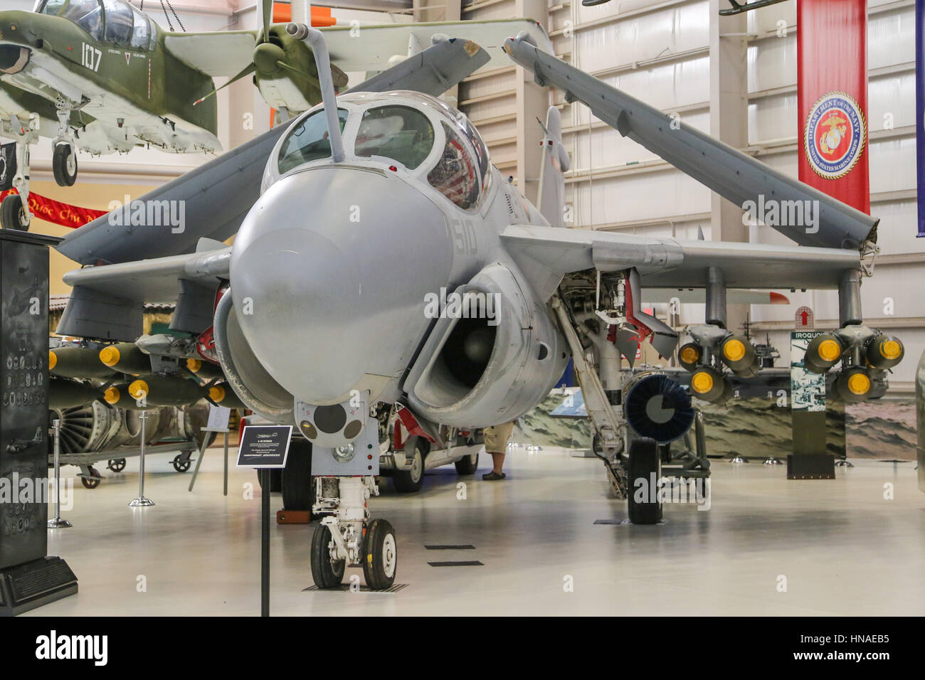
{"type": "MultiPolygon", "coordinates": [[[[705,291],[704,322],[686,329],[678,355],[703,401],[728,398],[728,373],[759,370],[756,348],[726,328],[727,291],[837,290],[840,328],[808,365],[841,362],[836,389],[852,400],[870,392],[863,377],[902,359],[902,343],[867,328],[860,310],[875,218],[685,124],[675,129],[551,56],[548,41],[521,34],[504,49],[538,83],[731,201],[818,201],[819,229],[786,231],[796,245],[565,229],[559,110],[549,108],[544,126],[540,210],[491,165],[471,121],[436,98],[485,63],[478,45],[438,41],[419,55],[421,68],[404,63],[376,77],[388,86],[336,96],[323,36],[297,24],[287,33],[312,47],[324,102],[274,138],[234,244],[203,239],[196,253],[142,259],[148,235],[104,243],[105,225],[79,229],[59,246],[87,266],[66,276],[75,294],[58,330],[100,333],[89,320],[105,308],[118,321],[106,337],[126,340],[138,304],[174,291],[176,314],[199,319],[189,328],[200,333],[197,348],[240,401],[312,443],[313,510],[324,517],[312,547],[319,587],[337,586],[349,564],[364,566],[371,587],[395,578],[394,529],[371,520],[367,502],[377,493],[379,404],[397,404],[410,432],[498,425],[544,399],[571,357],[595,453],[615,486],[625,492],[630,474],[658,476],[661,454],[702,419],[666,372],[634,372],[642,341],[670,356],[680,337],[643,310],[644,289],[705,291]],[[435,68],[444,75],[430,79],[435,68]],[[118,264],[93,266],[98,259],[118,264]],[[102,297],[114,286],[125,291],[115,304],[102,297]]],[[[657,499],[631,503],[635,521],[660,518],[657,499]]]]}

